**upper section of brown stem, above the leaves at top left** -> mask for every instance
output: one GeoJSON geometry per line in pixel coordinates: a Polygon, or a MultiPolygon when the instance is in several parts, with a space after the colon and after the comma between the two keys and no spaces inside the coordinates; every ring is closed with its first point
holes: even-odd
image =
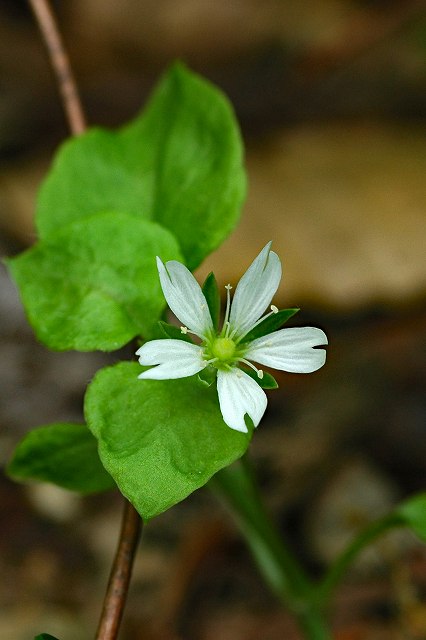
{"type": "Polygon", "coordinates": [[[86,128],[86,120],[68,55],[62,43],[52,9],[48,0],[28,1],[49,52],[50,62],[56,76],[71,132],[73,135],[79,135],[86,128]]]}

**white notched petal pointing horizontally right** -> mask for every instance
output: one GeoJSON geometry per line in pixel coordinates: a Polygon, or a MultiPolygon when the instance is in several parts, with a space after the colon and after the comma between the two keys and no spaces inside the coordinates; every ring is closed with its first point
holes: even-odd
{"type": "Polygon", "coordinates": [[[312,373],[325,363],[325,349],[314,349],[328,344],[327,336],[315,327],[280,329],[253,340],[244,354],[267,367],[291,373],[312,373]]]}

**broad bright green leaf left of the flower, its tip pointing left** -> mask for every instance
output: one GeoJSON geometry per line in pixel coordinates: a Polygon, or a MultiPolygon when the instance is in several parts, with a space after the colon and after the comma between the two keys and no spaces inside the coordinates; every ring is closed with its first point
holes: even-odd
{"type": "Polygon", "coordinates": [[[51,349],[113,351],[150,336],[165,306],[155,256],[173,236],[124,213],[75,222],[8,261],[31,325],[51,349]]]}

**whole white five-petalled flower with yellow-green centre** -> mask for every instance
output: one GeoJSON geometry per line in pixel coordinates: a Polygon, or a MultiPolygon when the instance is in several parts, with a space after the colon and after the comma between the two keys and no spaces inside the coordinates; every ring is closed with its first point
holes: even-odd
{"type": "Polygon", "coordinates": [[[248,414],[255,427],[267,404],[260,385],[238,367],[243,363],[263,378],[263,371],[251,361],[292,373],[311,373],[323,366],[326,352],[315,349],[327,344],[321,329],[303,327],[280,329],[252,341],[244,337],[265,317],[277,313],[271,305],[267,316],[262,313],[271,303],[280,279],[281,262],[270,250],[269,242],[241,278],[230,302],[227,285],[225,320],[220,333],[214,329],[207,300],[200,285],[188,269],[172,260],[165,265],[157,258],[161,287],[173,313],[184,325],[182,333],[193,333],[201,344],[182,340],[152,340],[136,355],[141,365],[157,365],[139,378],[167,380],[192,376],[207,366],[217,370],[217,392],[222,416],[236,431],[247,432],[244,416],[248,414]]]}

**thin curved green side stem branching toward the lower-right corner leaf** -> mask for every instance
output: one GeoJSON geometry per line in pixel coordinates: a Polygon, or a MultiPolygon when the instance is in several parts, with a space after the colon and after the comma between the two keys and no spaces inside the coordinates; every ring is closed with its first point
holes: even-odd
{"type": "Polygon", "coordinates": [[[349,566],[358,554],[371,544],[379,536],[398,526],[403,526],[404,520],[397,513],[392,513],[380,520],[372,522],[361,533],[359,533],[340,556],[331,565],[317,590],[318,603],[321,608],[326,606],[333,595],[337,585],[347,573],[349,566]]]}

